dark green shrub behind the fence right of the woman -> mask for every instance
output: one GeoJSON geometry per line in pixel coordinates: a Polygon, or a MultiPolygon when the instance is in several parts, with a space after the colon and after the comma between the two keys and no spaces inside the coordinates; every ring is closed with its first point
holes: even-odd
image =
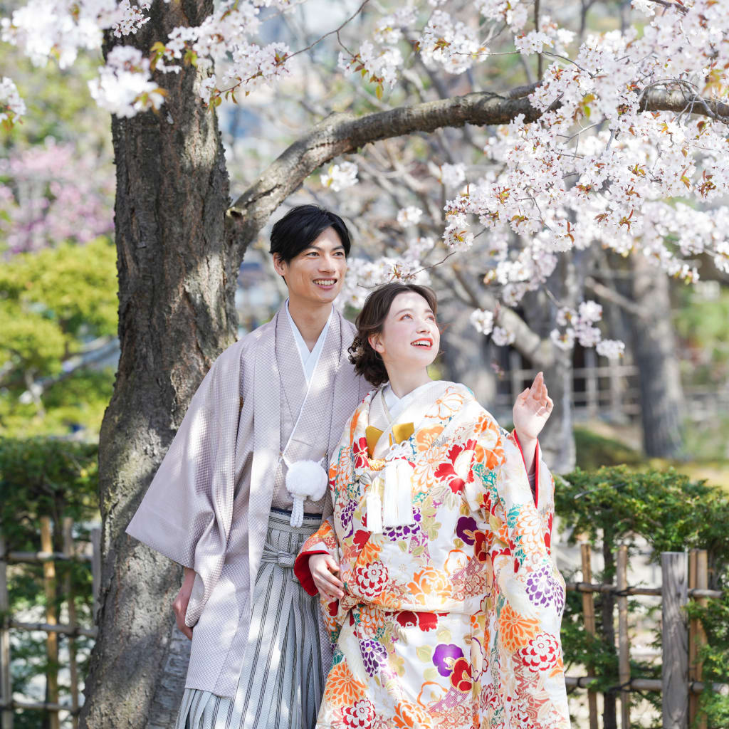
{"type": "MultiPolygon", "coordinates": [[[[605,569],[596,576],[615,582],[615,553],[620,544],[635,549],[639,538],[652,549],[652,558],[661,552],[705,549],[709,553],[710,588],[724,590],[721,599],[708,601],[706,608],[692,603],[688,612],[701,619],[709,645],[703,650],[703,678],[706,682],[726,682],[729,666],[729,496],[705,481],[691,480],[673,468],[637,472],[628,466],[602,467],[593,472],[576,469],[560,480],[555,491],[556,512],[570,541],[585,538],[601,550],[605,569]]],[[[594,663],[599,676],[596,689],[615,696],[619,685],[612,618],[615,596],[596,597],[596,640],[582,627],[582,605],[576,596],[567,601],[562,638],[566,664],[594,663]],[[589,660],[588,660],[589,659],[589,660]]],[[[637,609],[631,600],[629,609],[637,609]]],[[[660,631],[654,644],[660,646],[660,631]]],[[[657,678],[660,669],[634,662],[634,677],[657,678]]],[[[658,707],[657,694],[644,698],[658,707]]],[[[712,691],[703,693],[701,706],[711,729],[725,729],[729,718],[729,698],[712,691]]]]}

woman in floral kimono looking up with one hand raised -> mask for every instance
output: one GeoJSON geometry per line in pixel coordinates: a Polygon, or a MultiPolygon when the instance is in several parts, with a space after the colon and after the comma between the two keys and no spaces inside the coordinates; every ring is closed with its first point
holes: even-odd
{"type": "Polygon", "coordinates": [[[382,386],[346,426],[334,514],[295,567],[336,643],[317,727],[566,728],[564,580],[536,442],[552,403],[537,375],[515,436],[463,385],[431,381],[435,313],[430,289],[388,284],[357,319],[351,359],[382,386]]]}

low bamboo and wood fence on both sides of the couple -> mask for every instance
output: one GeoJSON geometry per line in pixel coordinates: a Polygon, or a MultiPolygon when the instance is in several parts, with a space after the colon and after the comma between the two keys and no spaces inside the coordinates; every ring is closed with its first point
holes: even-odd
{"type": "MultiPolygon", "coordinates": [[[[92,552],[82,553],[72,537],[73,523],[63,520],[63,551],[53,552],[51,543],[51,524],[47,518],[41,520],[41,550],[39,552],[6,552],[5,542],[0,533],[0,729],[12,729],[15,709],[41,710],[50,713],[50,726],[59,726],[59,714],[68,712],[74,729],[78,727],[79,715],[79,674],[77,666],[75,639],[78,636],[95,638],[96,628],[84,628],[77,622],[70,577],[66,578],[64,592],[68,604],[68,623],[58,623],[53,607],[53,580],[55,563],[79,561],[90,564],[93,570],[94,618],[98,610],[99,577],[101,574],[100,530],[91,531],[92,552]],[[9,564],[42,564],[44,588],[47,596],[45,623],[26,623],[13,619],[9,614],[7,591],[7,566],[9,564]],[[47,634],[46,650],[50,663],[47,674],[48,701],[25,701],[13,698],[10,676],[10,631],[42,631],[47,634]],[[58,635],[68,636],[69,676],[71,703],[59,703],[58,698],[58,635]]],[[[701,717],[693,725],[698,715],[698,694],[705,685],[701,680],[701,662],[698,654],[706,642],[698,620],[687,624],[684,607],[689,599],[697,599],[706,604],[707,599],[719,598],[722,593],[709,590],[708,561],[706,551],[693,550],[682,552],[663,552],[661,555],[660,587],[628,585],[628,547],[620,545],[617,550],[617,584],[592,582],[591,550],[589,545],[580,545],[582,561],[582,582],[568,582],[567,590],[582,594],[582,612],[585,629],[596,635],[594,596],[600,593],[613,593],[617,598],[618,630],[617,650],[620,684],[615,687],[620,696],[620,718],[622,729],[630,728],[630,694],[635,691],[658,691],[663,694],[663,729],[706,729],[701,717]],[[661,626],[663,633],[663,662],[660,679],[631,677],[630,639],[628,625],[628,596],[660,596],[661,626]]],[[[588,712],[590,729],[599,729],[597,692],[590,687],[598,677],[595,667],[585,666],[588,675],[566,677],[568,687],[588,689],[588,712]]],[[[714,685],[714,689],[726,690],[728,687],[714,685]]]]}

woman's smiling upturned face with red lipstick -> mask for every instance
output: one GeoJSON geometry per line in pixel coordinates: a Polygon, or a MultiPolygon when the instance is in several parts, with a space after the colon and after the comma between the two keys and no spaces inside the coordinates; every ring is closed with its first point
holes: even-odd
{"type": "Polygon", "coordinates": [[[387,367],[419,370],[432,364],[440,347],[440,332],[428,302],[415,292],[398,294],[379,334],[370,345],[387,367]]]}

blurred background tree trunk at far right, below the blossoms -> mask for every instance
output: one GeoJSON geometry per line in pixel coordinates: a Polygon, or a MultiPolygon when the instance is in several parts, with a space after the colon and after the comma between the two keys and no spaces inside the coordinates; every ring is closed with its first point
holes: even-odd
{"type": "Polygon", "coordinates": [[[639,370],[643,448],[653,458],[678,458],[683,451],[683,389],[668,278],[641,254],[634,254],[631,261],[633,298],[643,312],[630,319],[639,370]]]}

